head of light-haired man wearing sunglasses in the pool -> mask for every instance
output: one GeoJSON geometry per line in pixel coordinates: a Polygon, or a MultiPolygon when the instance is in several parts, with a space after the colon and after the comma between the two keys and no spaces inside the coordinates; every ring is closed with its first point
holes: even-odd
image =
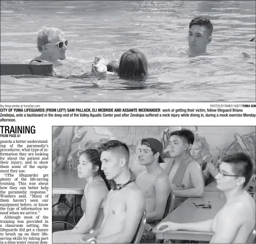
{"type": "Polygon", "coordinates": [[[57,61],[66,58],[67,40],[64,33],[55,27],[42,27],[38,31],[37,49],[41,58],[46,61],[57,61]]]}

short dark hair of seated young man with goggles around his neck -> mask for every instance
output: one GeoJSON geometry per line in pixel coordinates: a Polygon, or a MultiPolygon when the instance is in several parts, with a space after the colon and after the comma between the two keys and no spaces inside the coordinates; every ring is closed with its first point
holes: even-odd
{"type": "Polygon", "coordinates": [[[113,151],[113,152],[122,153],[123,158],[125,158],[125,161],[126,161],[125,165],[128,166],[130,153],[129,153],[129,148],[125,143],[122,143],[117,140],[111,140],[111,141],[102,143],[98,149],[99,157],[101,157],[101,153],[103,151],[113,151]]]}

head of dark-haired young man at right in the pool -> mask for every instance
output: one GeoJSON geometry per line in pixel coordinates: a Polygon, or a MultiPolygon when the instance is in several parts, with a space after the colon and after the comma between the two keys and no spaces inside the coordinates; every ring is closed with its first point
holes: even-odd
{"type": "Polygon", "coordinates": [[[187,41],[191,54],[206,53],[206,46],[211,42],[213,24],[205,17],[196,17],[189,23],[187,41]]]}

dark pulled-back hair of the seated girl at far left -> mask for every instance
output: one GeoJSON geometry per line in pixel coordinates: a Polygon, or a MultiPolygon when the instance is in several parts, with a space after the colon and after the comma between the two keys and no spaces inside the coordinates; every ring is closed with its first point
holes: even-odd
{"type": "Polygon", "coordinates": [[[85,155],[85,157],[89,160],[90,163],[92,163],[93,167],[99,166],[99,169],[95,172],[95,175],[100,175],[101,178],[105,181],[107,189],[111,189],[109,181],[106,179],[106,175],[101,170],[101,159],[99,158],[98,150],[96,149],[86,149],[85,151],[82,151],[81,155],[85,155]]]}

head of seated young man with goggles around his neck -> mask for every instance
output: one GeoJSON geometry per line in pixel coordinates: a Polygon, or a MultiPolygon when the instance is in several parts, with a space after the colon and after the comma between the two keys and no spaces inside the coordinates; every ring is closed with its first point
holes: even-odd
{"type": "Polygon", "coordinates": [[[108,180],[115,179],[123,170],[129,171],[129,148],[125,143],[111,140],[98,149],[101,158],[101,169],[108,180]]]}

